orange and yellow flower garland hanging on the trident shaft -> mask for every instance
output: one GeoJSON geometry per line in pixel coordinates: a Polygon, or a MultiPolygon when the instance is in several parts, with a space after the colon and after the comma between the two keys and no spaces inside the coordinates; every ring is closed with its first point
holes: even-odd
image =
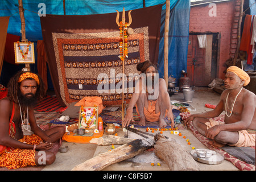
{"type": "Polygon", "coordinates": [[[120,56],[118,56],[122,61],[125,60],[125,57],[128,57],[128,39],[127,39],[127,23],[123,24],[123,22],[120,22],[119,24],[119,34],[120,34],[120,39],[119,39],[119,48],[120,48],[120,56]],[[123,45],[123,39],[125,45],[123,45]],[[124,46],[124,49],[123,49],[124,46]],[[124,51],[123,51],[124,50],[124,51]]]}

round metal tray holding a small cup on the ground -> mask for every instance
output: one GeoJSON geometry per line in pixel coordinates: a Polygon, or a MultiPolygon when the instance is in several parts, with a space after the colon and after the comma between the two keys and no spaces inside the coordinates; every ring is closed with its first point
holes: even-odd
{"type": "Polygon", "coordinates": [[[196,150],[192,150],[190,154],[192,155],[193,159],[205,164],[220,164],[224,160],[224,156],[220,153],[205,148],[198,148],[196,150]],[[196,154],[197,150],[207,151],[207,156],[205,158],[199,158],[196,154]]]}

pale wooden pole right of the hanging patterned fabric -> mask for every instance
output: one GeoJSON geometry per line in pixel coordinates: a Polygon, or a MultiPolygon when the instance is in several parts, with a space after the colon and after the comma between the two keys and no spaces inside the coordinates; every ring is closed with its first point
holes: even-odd
{"type": "Polygon", "coordinates": [[[169,39],[170,0],[166,0],[166,22],[164,24],[164,80],[168,88],[168,39],[169,39]]]}

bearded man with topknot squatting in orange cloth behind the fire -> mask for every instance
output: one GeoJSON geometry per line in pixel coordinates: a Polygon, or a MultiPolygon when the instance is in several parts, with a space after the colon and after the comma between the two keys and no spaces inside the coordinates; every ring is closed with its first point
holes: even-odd
{"type": "Polygon", "coordinates": [[[122,125],[128,126],[130,121],[133,121],[133,107],[136,105],[137,113],[141,117],[140,126],[145,126],[146,121],[159,121],[159,127],[164,128],[167,126],[164,118],[167,117],[171,121],[171,126],[174,127],[174,116],[166,82],[163,78],[158,78],[155,65],[150,61],[144,61],[137,65],[137,70],[141,72],[141,76],[135,85],[135,92],[131,97],[122,125]]]}

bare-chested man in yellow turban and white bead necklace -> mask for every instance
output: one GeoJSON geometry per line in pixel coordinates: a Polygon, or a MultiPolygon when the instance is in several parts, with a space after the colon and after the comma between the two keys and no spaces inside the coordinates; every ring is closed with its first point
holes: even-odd
{"type": "Polygon", "coordinates": [[[242,69],[232,66],[227,69],[220,102],[207,113],[192,114],[185,123],[193,121],[199,133],[212,139],[213,147],[225,144],[237,147],[255,146],[256,96],[243,88],[250,82],[250,77],[242,69]],[[225,111],[224,124],[213,119],[225,111]]]}

